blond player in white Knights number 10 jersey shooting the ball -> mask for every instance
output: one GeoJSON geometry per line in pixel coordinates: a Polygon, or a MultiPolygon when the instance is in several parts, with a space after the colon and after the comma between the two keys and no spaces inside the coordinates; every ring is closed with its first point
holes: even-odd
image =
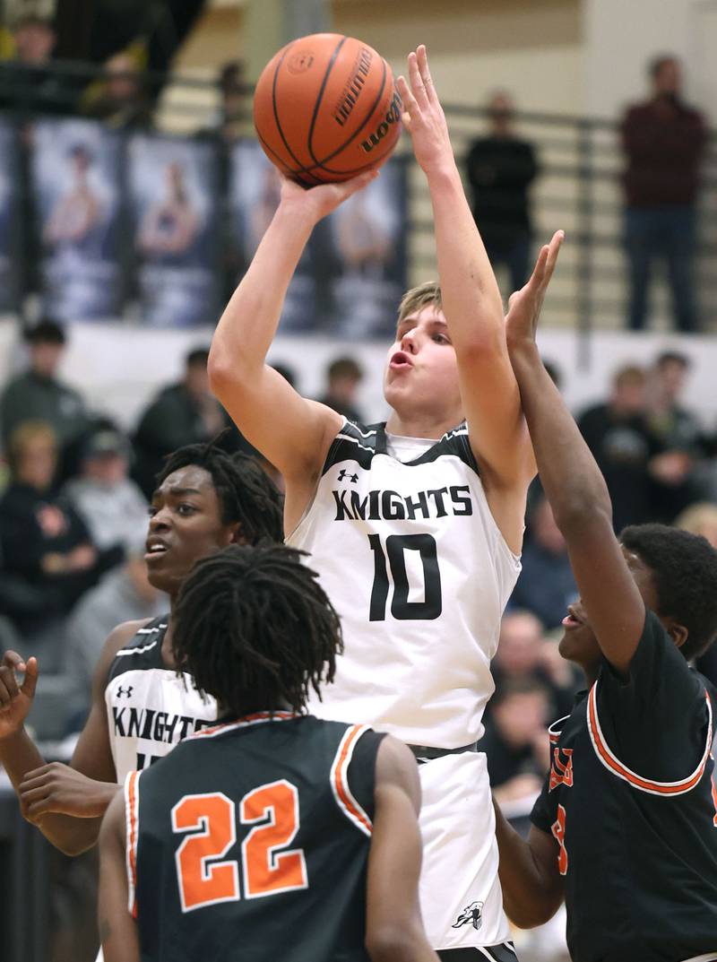
{"type": "MultiPolygon", "coordinates": [[[[409,292],[388,353],[385,425],[300,397],[266,353],[321,217],[374,174],[302,190],[279,209],[215,331],[213,391],[284,474],[284,530],[311,552],[343,620],[324,718],[359,719],[415,747],[422,910],[447,959],[513,958],[497,877],[485,759],[475,750],[490,658],[520,570],[532,449],[507,356],[500,292],[466,201],[426,50],[399,90],[433,202],[440,287],[409,292]]],[[[534,307],[524,289],[511,310],[534,307]]]]}

